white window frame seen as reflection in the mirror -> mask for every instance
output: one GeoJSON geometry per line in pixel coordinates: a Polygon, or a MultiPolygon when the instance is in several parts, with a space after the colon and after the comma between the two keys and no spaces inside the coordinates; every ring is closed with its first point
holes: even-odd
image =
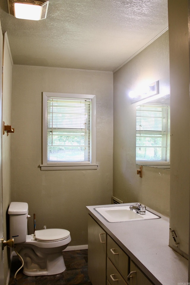
{"type": "MultiPolygon", "coordinates": [[[[159,104],[153,104],[153,103],[151,104],[150,102],[145,102],[145,103],[140,104],[140,105],[152,105],[152,106],[155,105],[156,106],[159,104]]],[[[137,120],[137,107],[139,107],[140,105],[136,106],[136,120],[137,120]]],[[[164,106],[169,107],[168,105],[165,105],[165,104],[164,104],[164,106]]],[[[154,133],[154,130],[144,131],[144,132],[147,132],[147,133],[153,132],[154,133]]],[[[160,132],[162,132],[162,131],[160,131],[160,132]]],[[[168,114],[167,114],[167,134],[166,134],[166,136],[167,136],[166,141],[168,141],[168,138],[170,140],[170,115],[168,116],[168,114]],[[169,125],[169,127],[168,127],[168,125],[169,125]]],[[[137,128],[136,128],[136,145],[137,145],[137,128]]],[[[136,164],[145,165],[145,166],[147,165],[147,166],[152,166],[152,167],[159,167],[159,168],[170,168],[170,141],[169,141],[169,147],[168,147],[168,143],[166,145],[167,145],[167,148],[169,148],[169,159],[168,160],[137,160],[137,153],[135,150],[136,164]]],[[[137,147],[136,147],[136,149],[137,149],[137,147]]]]}

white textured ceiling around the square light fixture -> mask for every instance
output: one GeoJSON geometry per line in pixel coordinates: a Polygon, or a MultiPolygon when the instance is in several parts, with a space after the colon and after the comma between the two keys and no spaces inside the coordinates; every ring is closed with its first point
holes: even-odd
{"type": "Polygon", "coordinates": [[[49,0],[40,21],[1,0],[0,20],[14,64],[114,71],[167,29],[167,0],[49,0]]]}

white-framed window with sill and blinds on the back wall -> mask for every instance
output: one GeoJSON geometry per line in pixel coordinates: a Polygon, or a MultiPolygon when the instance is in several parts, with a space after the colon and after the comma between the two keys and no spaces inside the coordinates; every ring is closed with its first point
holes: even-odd
{"type": "Polygon", "coordinates": [[[41,170],[97,169],[95,100],[94,95],[43,93],[41,170]]]}

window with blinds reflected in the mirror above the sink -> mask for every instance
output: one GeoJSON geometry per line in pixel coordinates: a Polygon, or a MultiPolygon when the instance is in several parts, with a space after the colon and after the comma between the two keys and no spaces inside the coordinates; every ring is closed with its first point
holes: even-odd
{"type": "Polygon", "coordinates": [[[136,163],[170,164],[170,106],[151,103],[137,106],[136,163]]]}

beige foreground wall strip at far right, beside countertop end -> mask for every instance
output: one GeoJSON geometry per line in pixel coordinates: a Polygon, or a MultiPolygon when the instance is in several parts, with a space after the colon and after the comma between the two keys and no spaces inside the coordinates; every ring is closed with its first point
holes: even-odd
{"type": "MultiPolygon", "coordinates": [[[[190,102],[189,102],[189,1],[168,1],[171,84],[171,204],[169,245],[189,254],[190,102]]],[[[190,276],[189,276],[190,278],[190,276]]]]}

